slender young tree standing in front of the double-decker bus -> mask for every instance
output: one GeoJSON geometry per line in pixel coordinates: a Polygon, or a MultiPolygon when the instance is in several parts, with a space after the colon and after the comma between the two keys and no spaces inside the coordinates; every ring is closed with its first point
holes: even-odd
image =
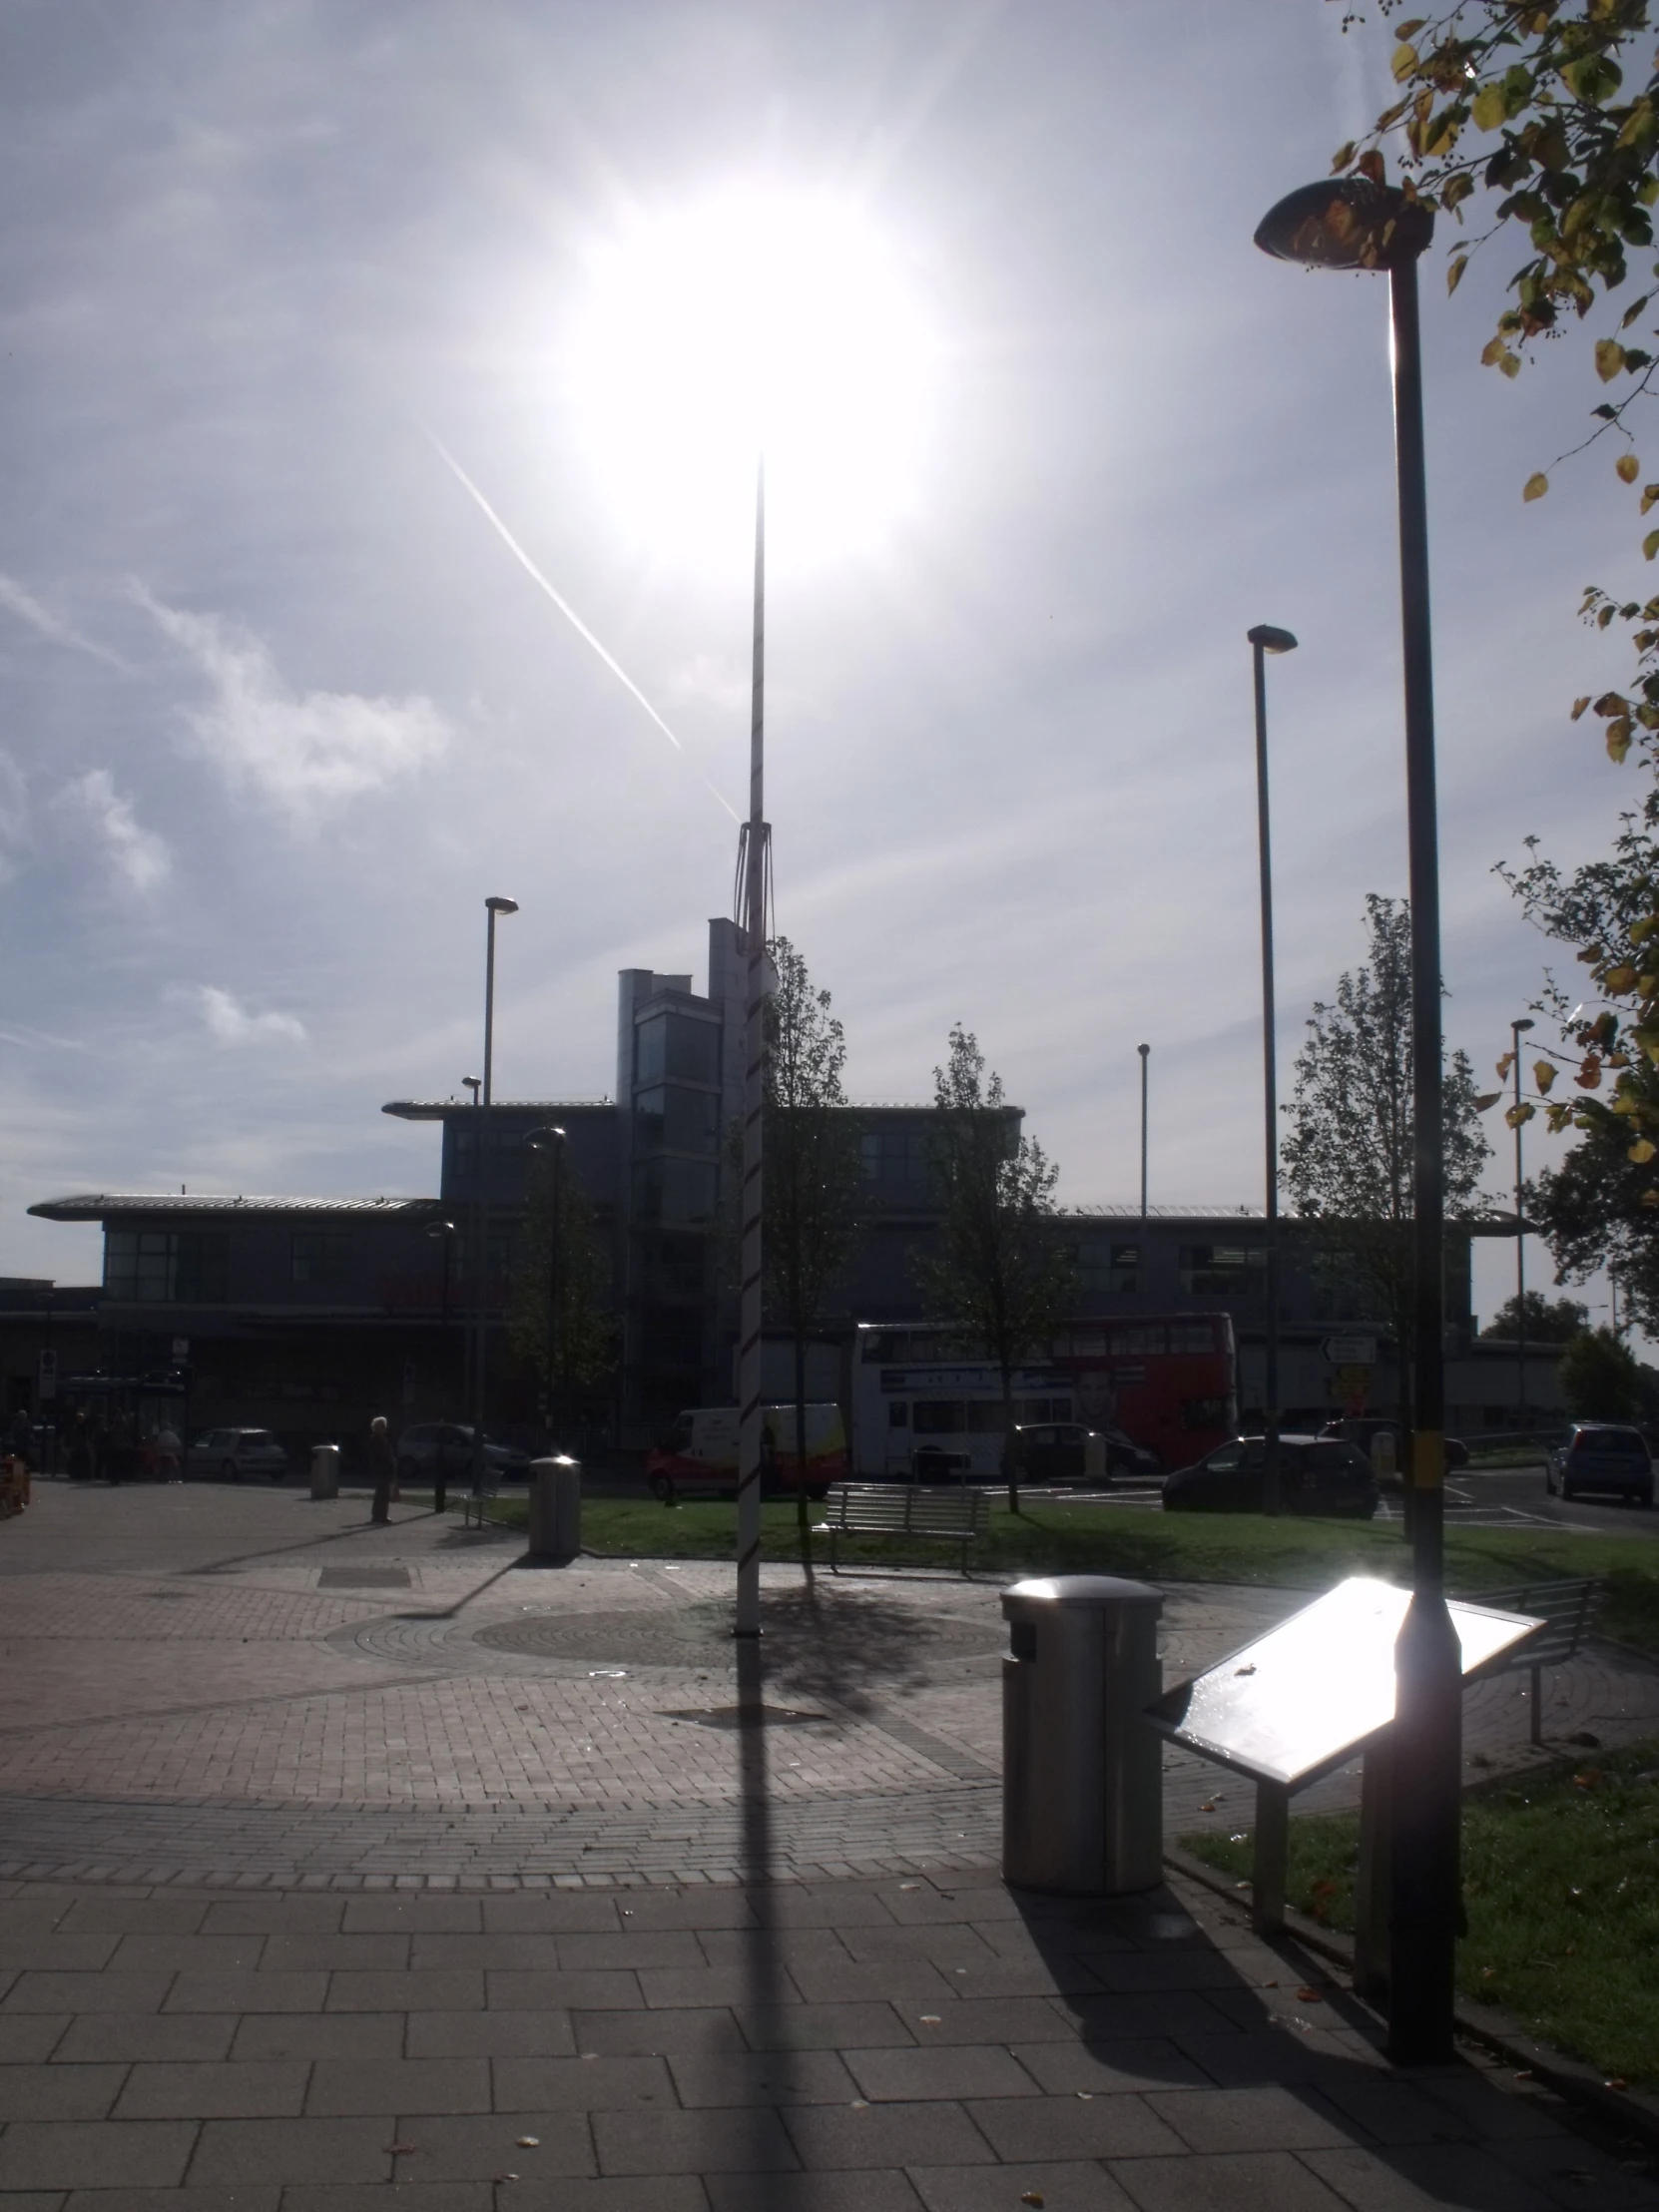
{"type": "Polygon", "coordinates": [[[1077,1301],[1077,1261],[1055,1223],[1060,1168],[1024,1137],[984,1073],[984,1053],[960,1022],[933,1068],[933,1172],[945,1219],[940,1256],[918,1259],[922,1294],[940,1318],[995,1360],[1002,1376],[1002,1451],[1009,1511],[1020,1511],[1013,1369],[1046,1345],[1077,1301]]]}

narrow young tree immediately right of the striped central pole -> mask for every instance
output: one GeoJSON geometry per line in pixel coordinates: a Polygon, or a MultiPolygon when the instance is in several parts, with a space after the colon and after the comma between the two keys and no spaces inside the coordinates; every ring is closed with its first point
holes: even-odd
{"type": "Polygon", "coordinates": [[[807,1336],[858,1239],[858,1119],[841,1071],[847,1042],[787,938],[768,947],[776,989],[765,1004],[765,1292],[794,1343],[794,1455],[801,1562],[812,1568],[807,1526],[807,1336]]]}

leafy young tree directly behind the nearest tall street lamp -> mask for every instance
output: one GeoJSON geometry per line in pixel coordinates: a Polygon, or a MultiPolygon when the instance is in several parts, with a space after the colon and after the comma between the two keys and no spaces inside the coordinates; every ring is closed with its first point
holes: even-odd
{"type": "MultiPolygon", "coordinates": [[[[1411,1166],[1411,909],[1365,898],[1369,960],[1338,978],[1336,1004],[1316,1004],[1296,1057],[1296,1097],[1283,1108],[1285,1192],[1318,1223],[1316,1252],[1334,1274],[1376,1301],[1396,1343],[1409,1405],[1413,1243],[1411,1166]]],[[[1491,1146],[1480,1130],[1475,1079],[1464,1053],[1442,1077],[1447,1217],[1480,1212],[1480,1170],[1491,1146]]]]}

